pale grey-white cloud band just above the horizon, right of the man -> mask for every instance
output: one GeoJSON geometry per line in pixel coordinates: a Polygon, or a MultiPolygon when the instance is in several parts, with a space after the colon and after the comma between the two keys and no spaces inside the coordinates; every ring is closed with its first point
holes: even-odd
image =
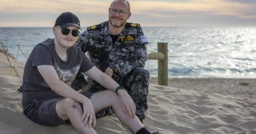
{"type": "MultiPolygon", "coordinates": [[[[143,14],[144,15],[144,14],[143,14]]],[[[249,20],[234,16],[201,15],[201,16],[180,16],[175,18],[154,18],[150,16],[141,17],[142,14],[135,14],[129,22],[137,22],[144,26],[165,26],[165,27],[233,27],[233,26],[255,26],[256,18],[249,20]]]]}

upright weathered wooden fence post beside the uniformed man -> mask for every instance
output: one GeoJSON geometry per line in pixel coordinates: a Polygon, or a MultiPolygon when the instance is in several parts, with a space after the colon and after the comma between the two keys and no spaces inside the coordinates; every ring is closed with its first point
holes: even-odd
{"type": "Polygon", "coordinates": [[[158,84],[168,86],[168,43],[158,42],[158,52],[164,55],[163,59],[158,59],[158,84]]]}

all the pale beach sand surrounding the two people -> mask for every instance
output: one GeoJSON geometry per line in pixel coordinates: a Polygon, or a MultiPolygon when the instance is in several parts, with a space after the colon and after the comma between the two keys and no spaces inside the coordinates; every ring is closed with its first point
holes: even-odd
{"type": "MultiPolygon", "coordinates": [[[[48,127],[22,114],[24,63],[16,62],[19,76],[0,55],[0,133],[77,133],[72,126],[48,127]]],[[[14,63],[14,59],[11,59],[14,63]]],[[[144,126],[160,133],[256,133],[256,79],[169,78],[169,86],[150,78],[144,126]]],[[[113,116],[96,120],[98,133],[131,133],[113,116]]]]}

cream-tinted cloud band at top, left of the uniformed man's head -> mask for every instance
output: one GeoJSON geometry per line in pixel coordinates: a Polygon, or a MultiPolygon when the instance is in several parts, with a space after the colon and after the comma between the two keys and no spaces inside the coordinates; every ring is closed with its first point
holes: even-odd
{"type": "Polygon", "coordinates": [[[108,9],[107,1],[93,0],[3,0],[0,1],[1,13],[30,13],[30,12],[93,12],[102,13],[108,9]]]}

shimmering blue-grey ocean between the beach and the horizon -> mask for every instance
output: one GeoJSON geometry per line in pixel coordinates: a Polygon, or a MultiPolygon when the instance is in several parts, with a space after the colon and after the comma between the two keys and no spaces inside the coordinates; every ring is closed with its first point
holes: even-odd
{"type": "MultiPolygon", "coordinates": [[[[256,27],[142,28],[148,52],[157,52],[158,42],[168,43],[170,78],[256,78],[256,27]]],[[[47,38],[53,38],[51,27],[0,27],[0,42],[24,62],[47,38]]],[[[157,60],[146,61],[145,68],[151,77],[158,75],[157,60]]]]}

